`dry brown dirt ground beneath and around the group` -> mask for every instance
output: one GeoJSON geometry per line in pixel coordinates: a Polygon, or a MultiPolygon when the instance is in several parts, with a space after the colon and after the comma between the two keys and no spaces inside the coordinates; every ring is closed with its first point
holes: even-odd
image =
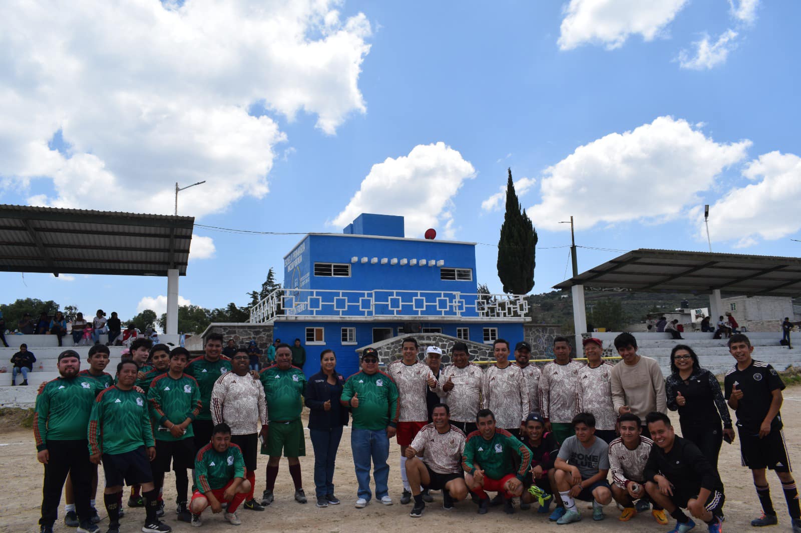
{"type": "MultiPolygon", "coordinates": [[[[791,454],[791,459],[801,461],[801,435],[796,428],[801,427],[801,386],[788,387],[784,393],[784,406],[782,409],[785,422],[785,437],[787,447],[791,454]]],[[[675,426],[678,427],[678,417],[674,419],[675,426]]],[[[314,483],[312,480],[313,462],[312,443],[306,439],[306,451],[308,455],[300,459],[300,464],[304,473],[304,489],[309,497],[309,503],[300,505],[293,499],[294,488],[286,461],[282,461],[276,484],[276,500],[267,508],[267,511],[256,512],[239,510],[239,518],[242,525],[239,527],[231,526],[223,519],[222,515],[211,515],[207,510],[203,513],[203,527],[196,529],[187,523],[180,523],[175,520],[175,507],[172,502],[175,499],[175,483],[171,474],[167,475],[167,482],[164,490],[164,499],[167,502],[166,521],[173,528],[173,531],[219,531],[231,530],[239,533],[256,531],[321,531],[324,533],[340,532],[364,532],[372,531],[402,531],[409,527],[424,527],[433,531],[478,531],[479,528],[498,527],[509,531],[519,530],[521,527],[536,527],[537,531],[563,531],[555,523],[549,522],[544,515],[538,515],[536,506],[529,511],[517,511],[514,515],[505,515],[500,507],[491,508],[488,515],[479,516],[476,513],[477,507],[469,500],[457,503],[453,511],[444,511],[441,508],[441,493],[435,494],[434,503],[429,503],[424,515],[419,519],[409,517],[410,505],[400,505],[400,474],[398,472],[398,458],[400,448],[392,442],[390,455],[390,475],[389,489],[395,504],[384,506],[376,503],[373,499],[368,507],[356,509],[353,503],[356,501],[356,476],[353,471],[352,454],[350,450],[350,431],[346,428],[340,451],[337,456],[336,475],[336,495],[342,500],[337,506],[327,508],[317,508],[314,505],[314,483]]],[[[39,506],[42,500],[42,467],[36,461],[32,431],[14,430],[4,431],[0,437],[0,469],[3,475],[2,487],[13,487],[13,490],[0,490],[0,531],[38,531],[36,525],[39,518],[39,506]]],[[[264,490],[264,469],[267,466],[267,458],[260,457],[259,473],[256,479],[256,491],[258,494],[264,490]]],[[[721,450],[719,467],[726,485],[726,528],[740,529],[749,528],[751,519],[760,513],[759,503],[756,500],[754,484],[751,480],[751,473],[746,468],[740,466],[739,443],[731,446],[723,443],[721,450]]],[[[101,468],[101,484],[103,479],[103,469],[101,468]]],[[[790,531],[790,519],[787,515],[787,507],[781,491],[781,485],[775,475],[770,475],[771,493],[773,495],[776,510],[779,511],[779,527],[771,528],[771,531],[790,531]]],[[[102,489],[98,491],[102,494],[102,489]]],[[[102,502],[102,495],[100,496],[102,502]]],[[[126,489],[127,498],[127,489],[126,489]]],[[[98,511],[103,517],[99,523],[101,531],[105,531],[108,525],[105,510],[100,505],[98,511]]],[[[606,520],[594,522],[591,511],[586,505],[579,507],[582,511],[583,519],[581,523],[574,524],[575,528],[581,531],[666,531],[673,527],[671,519],[670,526],[659,526],[654,522],[650,513],[637,515],[629,523],[618,522],[620,511],[610,504],[606,507],[606,520]]],[[[63,507],[59,509],[59,521],[56,523],[54,531],[74,531],[64,526],[61,521],[63,507]]],[[[126,515],[122,519],[120,531],[131,533],[141,531],[144,519],[142,509],[126,509],[126,515]]],[[[699,524],[698,531],[706,531],[704,524],[699,524]]]]}

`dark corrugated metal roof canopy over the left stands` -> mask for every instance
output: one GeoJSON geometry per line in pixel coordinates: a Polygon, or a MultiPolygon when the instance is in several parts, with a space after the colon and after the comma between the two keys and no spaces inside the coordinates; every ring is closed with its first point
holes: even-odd
{"type": "Polygon", "coordinates": [[[194,217],[0,205],[0,271],[187,274],[194,217]]]}

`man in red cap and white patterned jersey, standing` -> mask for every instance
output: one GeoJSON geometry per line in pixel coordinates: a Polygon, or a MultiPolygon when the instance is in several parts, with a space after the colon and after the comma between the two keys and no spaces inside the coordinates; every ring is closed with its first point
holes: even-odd
{"type": "Polygon", "coordinates": [[[612,403],[610,371],[614,365],[606,363],[600,339],[584,339],[584,356],[587,364],[578,369],[576,380],[576,411],[595,416],[595,436],[607,444],[617,438],[615,425],[618,413],[612,403]]]}

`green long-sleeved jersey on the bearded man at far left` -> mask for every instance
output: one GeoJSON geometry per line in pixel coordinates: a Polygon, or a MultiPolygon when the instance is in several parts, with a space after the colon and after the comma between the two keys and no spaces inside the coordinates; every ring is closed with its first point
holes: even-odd
{"type": "Polygon", "coordinates": [[[42,451],[49,440],[84,440],[95,395],[101,387],[81,375],[49,381],[36,397],[34,438],[42,451]]]}

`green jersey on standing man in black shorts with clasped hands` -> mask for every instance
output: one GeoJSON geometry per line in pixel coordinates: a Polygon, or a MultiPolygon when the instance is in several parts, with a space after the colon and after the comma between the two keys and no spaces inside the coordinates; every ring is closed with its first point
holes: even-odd
{"type": "Polygon", "coordinates": [[[186,433],[178,438],[172,436],[170,431],[158,429],[166,427],[164,424],[167,420],[180,424],[187,418],[194,420],[198,415],[203,404],[200,403],[200,387],[195,378],[186,374],[182,374],[179,379],[172,379],[169,373],[159,375],[151,381],[150,389],[147,391],[147,403],[153,427],[157,428],[156,440],[183,440],[195,435],[191,424],[187,426],[186,433]]]}

